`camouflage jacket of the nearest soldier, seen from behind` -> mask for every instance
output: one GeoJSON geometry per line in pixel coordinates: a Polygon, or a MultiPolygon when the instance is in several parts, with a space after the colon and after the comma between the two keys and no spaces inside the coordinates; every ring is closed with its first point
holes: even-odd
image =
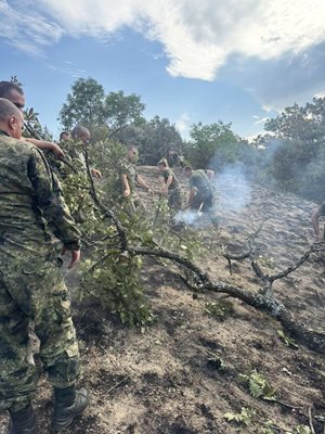
{"type": "Polygon", "coordinates": [[[0,254],[46,254],[55,237],[79,248],[80,232],[41,151],[0,133],[0,254]]]}

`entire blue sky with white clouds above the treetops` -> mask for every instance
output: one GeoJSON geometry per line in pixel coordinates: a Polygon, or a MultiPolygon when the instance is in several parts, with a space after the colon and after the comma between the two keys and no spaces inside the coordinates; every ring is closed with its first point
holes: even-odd
{"type": "Polygon", "coordinates": [[[57,137],[73,82],[136,93],[145,116],[188,137],[219,119],[251,137],[265,118],[325,95],[325,2],[314,0],[0,0],[0,79],[57,137]]]}

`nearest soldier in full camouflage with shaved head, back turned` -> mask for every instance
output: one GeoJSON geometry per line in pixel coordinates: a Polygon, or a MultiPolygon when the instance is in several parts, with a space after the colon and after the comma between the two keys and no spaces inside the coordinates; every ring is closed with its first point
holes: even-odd
{"type": "Polygon", "coordinates": [[[12,434],[35,433],[30,320],[54,387],[54,426],[67,426],[88,404],[87,391],[75,388],[78,343],[49,224],[70,251],[69,268],[80,258],[80,232],[42,153],[20,140],[23,123],[22,112],[0,99],[0,409],[10,411],[12,434]]]}

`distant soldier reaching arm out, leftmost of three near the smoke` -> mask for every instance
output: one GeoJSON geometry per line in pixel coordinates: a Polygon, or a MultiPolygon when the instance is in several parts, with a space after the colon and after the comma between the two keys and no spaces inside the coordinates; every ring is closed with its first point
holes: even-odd
{"type": "Polygon", "coordinates": [[[145,180],[136,171],[136,162],[139,152],[135,146],[130,145],[127,151],[126,157],[120,164],[120,182],[122,196],[125,199],[123,205],[126,210],[134,214],[136,208],[144,206],[135,192],[135,183],[145,189],[150,194],[154,194],[153,190],[146,184],[145,180]]]}

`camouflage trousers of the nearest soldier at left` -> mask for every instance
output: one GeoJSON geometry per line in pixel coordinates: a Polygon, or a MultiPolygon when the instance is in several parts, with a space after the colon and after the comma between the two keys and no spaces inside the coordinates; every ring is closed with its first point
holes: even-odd
{"type": "Polygon", "coordinates": [[[29,349],[29,322],[40,340],[39,356],[54,387],[75,384],[79,350],[69,292],[51,258],[0,255],[0,409],[17,411],[37,386],[29,349]]]}

